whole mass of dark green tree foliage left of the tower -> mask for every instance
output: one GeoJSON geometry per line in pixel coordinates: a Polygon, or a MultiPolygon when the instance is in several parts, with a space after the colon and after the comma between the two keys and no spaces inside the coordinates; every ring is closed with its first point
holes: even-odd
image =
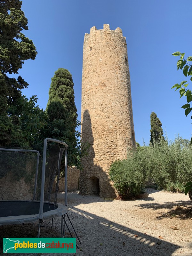
{"type": "Polygon", "coordinates": [[[25,60],[36,57],[36,48],[22,30],[28,20],[19,0],[0,1],[0,146],[34,146],[45,138],[68,144],[69,165],[80,165],[88,145],[79,141],[73,80],[67,69],[59,68],[52,78],[47,109],[37,105],[37,97],[21,94],[28,83],[17,74],[25,60]]]}

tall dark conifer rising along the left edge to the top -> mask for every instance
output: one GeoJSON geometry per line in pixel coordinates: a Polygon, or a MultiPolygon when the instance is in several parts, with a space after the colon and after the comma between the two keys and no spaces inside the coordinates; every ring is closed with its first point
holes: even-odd
{"type": "Polygon", "coordinates": [[[36,57],[36,48],[32,40],[21,31],[28,29],[28,20],[21,11],[22,2],[9,0],[0,2],[0,145],[22,144],[20,120],[9,116],[9,107],[16,107],[15,101],[21,97],[21,89],[28,83],[21,76],[10,78],[9,74],[17,74],[24,60],[36,57]],[[20,139],[19,139],[20,138],[20,139]]]}

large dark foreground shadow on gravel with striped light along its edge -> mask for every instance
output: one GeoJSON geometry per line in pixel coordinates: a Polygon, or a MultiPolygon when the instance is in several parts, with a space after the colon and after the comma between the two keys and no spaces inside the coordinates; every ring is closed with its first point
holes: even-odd
{"type": "Polygon", "coordinates": [[[72,222],[75,221],[76,231],[81,237],[86,256],[172,255],[180,248],[158,237],[119,225],[115,220],[109,221],[73,206],[68,209],[68,214],[72,222]],[[100,242],[103,246],[100,246],[100,242]]]}

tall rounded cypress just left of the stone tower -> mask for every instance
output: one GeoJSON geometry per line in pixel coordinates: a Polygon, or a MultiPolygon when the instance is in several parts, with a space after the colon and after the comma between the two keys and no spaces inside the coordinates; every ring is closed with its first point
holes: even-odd
{"type": "Polygon", "coordinates": [[[68,164],[78,166],[81,143],[76,126],[79,126],[80,122],[76,119],[73,85],[71,73],[67,69],[59,68],[55,72],[46,108],[48,124],[43,129],[42,136],[65,141],[68,144],[68,164]]]}

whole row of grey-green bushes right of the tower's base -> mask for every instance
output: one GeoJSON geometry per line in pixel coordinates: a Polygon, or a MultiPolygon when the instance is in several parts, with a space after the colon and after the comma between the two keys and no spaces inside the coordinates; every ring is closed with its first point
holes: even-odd
{"type": "Polygon", "coordinates": [[[140,193],[147,181],[160,189],[183,192],[183,185],[192,177],[192,146],[186,141],[180,136],[170,142],[160,139],[154,146],[132,149],[127,159],[114,162],[109,175],[120,199],[140,193]]]}

